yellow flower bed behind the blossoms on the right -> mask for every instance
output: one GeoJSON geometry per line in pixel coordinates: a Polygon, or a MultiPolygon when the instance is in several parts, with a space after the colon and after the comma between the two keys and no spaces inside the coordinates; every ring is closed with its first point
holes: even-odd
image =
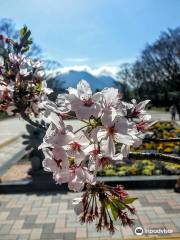
{"type": "MultiPolygon", "coordinates": [[[[147,136],[151,139],[169,139],[180,136],[180,129],[175,128],[171,122],[157,122],[148,129],[147,136]]],[[[173,142],[146,142],[137,147],[131,148],[134,152],[153,152],[180,155],[180,143],[173,142]]],[[[180,165],[150,160],[131,161],[126,160],[117,166],[107,166],[100,176],[131,176],[131,175],[179,175],[180,165]]]]}

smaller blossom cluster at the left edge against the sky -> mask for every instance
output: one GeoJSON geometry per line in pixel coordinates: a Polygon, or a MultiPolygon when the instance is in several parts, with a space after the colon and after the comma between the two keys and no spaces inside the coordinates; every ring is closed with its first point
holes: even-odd
{"type": "Polygon", "coordinates": [[[37,116],[51,90],[41,63],[23,54],[23,44],[0,35],[0,111],[37,116]]]}

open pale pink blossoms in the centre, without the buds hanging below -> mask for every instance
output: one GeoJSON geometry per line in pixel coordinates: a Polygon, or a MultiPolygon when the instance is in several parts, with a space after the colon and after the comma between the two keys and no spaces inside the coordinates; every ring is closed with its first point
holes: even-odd
{"type": "Polygon", "coordinates": [[[69,88],[67,94],[60,94],[57,102],[41,145],[46,156],[43,166],[53,173],[57,183],[68,182],[73,191],[81,191],[85,183],[95,183],[99,170],[123,160],[130,146],[141,144],[150,119],[144,110],[148,101],[125,103],[115,88],[92,94],[85,80],[78,83],[77,89],[69,88]],[[83,123],[78,131],[63,121],[69,112],[83,123]],[[117,145],[121,146],[119,152],[117,145]]]}

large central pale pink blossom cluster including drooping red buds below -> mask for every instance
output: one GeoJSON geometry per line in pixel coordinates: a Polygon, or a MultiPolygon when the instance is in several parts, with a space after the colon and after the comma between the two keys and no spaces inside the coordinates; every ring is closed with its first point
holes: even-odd
{"type": "Polygon", "coordinates": [[[123,161],[131,146],[141,144],[150,119],[145,111],[148,102],[123,102],[115,88],[93,94],[85,80],[77,89],[68,88],[68,93],[60,94],[57,105],[44,102],[50,125],[40,146],[45,155],[43,167],[52,172],[56,183],[68,183],[72,191],[87,188],[81,199],[74,200],[82,223],[98,219],[97,230],[110,232],[114,232],[113,219],[123,225],[133,223],[126,210],[134,214],[127,204],[134,199],[128,202],[122,187],[108,187],[96,175],[105,166],[123,161]],[[82,123],[78,130],[73,129],[74,120],[69,122],[72,125],[64,121],[70,116],[82,123]]]}

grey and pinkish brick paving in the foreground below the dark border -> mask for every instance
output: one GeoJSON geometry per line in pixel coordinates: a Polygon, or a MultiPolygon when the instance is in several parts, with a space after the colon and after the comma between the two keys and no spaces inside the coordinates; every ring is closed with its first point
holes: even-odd
{"type": "Polygon", "coordinates": [[[180,194],[172,190],[129,193],[139,198],[134,204],[135,226],[119,227],[113,236],[107,231],[97,233],[94,224],[78,222],[71,202],[79,193],[0,195],[0,239],[124,239],[133,236],[134,228],[140,226],[180,233],[180,194]]]}

